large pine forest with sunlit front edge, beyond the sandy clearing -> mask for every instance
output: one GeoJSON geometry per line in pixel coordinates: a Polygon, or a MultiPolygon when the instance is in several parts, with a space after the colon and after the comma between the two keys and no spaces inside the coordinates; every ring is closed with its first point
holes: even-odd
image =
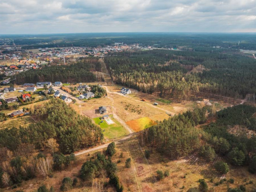
{"type": "Polygon", "coordinates": [[[256,60],[236,54],[148,50],[104,58],[118,84],[161,97],[186,99],[195,92],[232,98],[256,93],[256,60]]]}

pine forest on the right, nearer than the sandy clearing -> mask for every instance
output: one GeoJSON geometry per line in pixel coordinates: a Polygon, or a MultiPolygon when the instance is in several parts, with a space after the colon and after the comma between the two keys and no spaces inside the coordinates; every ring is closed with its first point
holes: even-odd
{"type": "Polygon", "coordinates": [[[197,152],[205,161],[213,161],[218,154],[229,164],[248,166],[249,172],[256,173],[256,134],[246,132],[246,129],[256,130],[256,107],[226,108],[216,113],[216,122],[197,129],[195,126],[203,124],[209,112],[202,108],[176,115],[141,131],[138,139],[143,146],[156,148],[170,159],[197,152]],[[245,130],[232,134],[234,126],[245,130]]]}

